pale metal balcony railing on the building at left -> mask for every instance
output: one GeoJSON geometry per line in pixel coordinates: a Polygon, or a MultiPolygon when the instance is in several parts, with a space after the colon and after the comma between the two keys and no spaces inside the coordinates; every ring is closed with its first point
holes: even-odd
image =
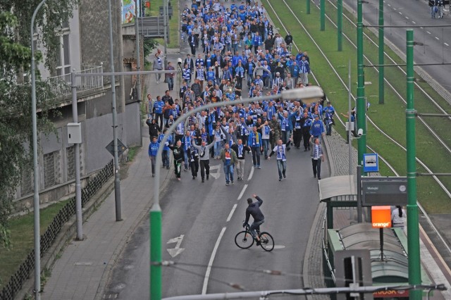
{"type": "MultiPolygon", "coordinates": [[[[85,65],[82,66],[82,70],[75,72],[76,74],[95,74],[102,73],[103,65],[100,66],[91,66],[85,65]]],[[[97,89],[104,87],[104,77],[102,75],[99,76],[89,76],[89,77],[76,77],[76,87],[77,92],[88,91],[89,89],[97,89]]],[[[55,77],[49,77],[45,80],[49,85],[51,92],[53,92],[54,96],[68,96],[72,92],[70,90],[70,86],[72,82],[70,82],[70,74],[60,75],[55,77]]]]}

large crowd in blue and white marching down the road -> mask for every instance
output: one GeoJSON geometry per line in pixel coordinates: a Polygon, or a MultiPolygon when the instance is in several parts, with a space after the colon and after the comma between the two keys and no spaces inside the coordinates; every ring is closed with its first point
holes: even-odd
{"type": "MultiPolygon", "coordinates": [[[[173,99],[174,74],[166,73],[168,90],[154,99],[147,95],[149,158],[152,176],[156,154],[166,133],[163,168],[171,168],[172,151],[175,175],[190,171],[195,180],[209,180],[210,158],[223,161],[226,185],[244,180],[245,157],[252,156],[254,168],[261,160],[276,156],[279,180],[286,177],[286,153],[291,146],[311,151],[314,177],[321,179],[324,156],[320,138],[330,135],[335,109],[324,99],[302,101],[259,101],[259,96],[278,94],[285,89],[309,85],[309,56],[306,51],[292,54],[292,36],[273,32],[262,4],[232,2],[226,8],[218,0],[192,1],[183,9],[182,36],[191,54],[183,61],[183,84],[173,99]],[[202,2],[202,3],[201,3],[202,2]],[[235,99],[255,98],[251,104],[234,104],[235,99]],[[190,115],[175,132],[167,132],[177,118],[206,104],[222,102],[190,115]]],[[[155,54],[156,70],[173,70],[155,54]]],[[[161,76],[156,76],[159,83],[161,76]]]]}

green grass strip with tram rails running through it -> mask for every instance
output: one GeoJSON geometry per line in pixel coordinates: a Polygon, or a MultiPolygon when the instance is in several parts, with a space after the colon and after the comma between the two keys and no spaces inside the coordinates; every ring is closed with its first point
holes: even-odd
{"type": "MultiPolygon", "coordinates": [[[[266,7],[266,11],[270,15],[271,19],[275,23],[276,27],[280,28],[280,33],[285,35],[285,30],[280,24],[280,21],[273,13],[271,6],[268,5],[268,0],[263,0],[263,4],[266,7]]],[[[321,55],[319,49],[311,41],[310,37],[299,25],[295,17],[292,15],[287,6],[280,0],[270,1],[273,8],[280,20],[283,20],[283,25],[287,27],[287,30],[292,32],[294,41],[303,51],[308,51],[311,61],[311,70],[314,72],[321,87],[333,101],[333,106],[338,112],[347,111],[347,89],[340,82],[338,77],[330,68],[330,65],[326,62],[325,58],[321,55]]],[[[343,48],[341,52],[337,51],[337,37],[336,28],[332,23],[326,21],[326,30],[320,31],[319,27],[319,10],[311,5],[311,14],[307,15],[305,13],[306,1],[305,0],[287,0],[286,3],[290,6],[292,11],[297,15],[297,18],[302,22],[304,27],[306,27],[307,32],[314,38],[315,42],[321,47],[324,54],[327,56],[328,60],[332,63],[333,67],[337,71],[338,75],[342,78],[347,85],[347,65],[348,61],[351,61],[352,65],[352,93],[355,95],[357,90],[357,50],[343,38],[343,48]]],[[[335,15],[335,8],[331,4],[326,7],[326,13],[328,15],[335,15]]],[[[345,12],[347,13],[347,11],[345,12]]],[[[348,13],[347,13],[348,14],[348,13]]],[[[354,19],[352,15],[350,18],[354,19]]],[[[335,22],[335,19],[333,22],[335,22]]],[[[356,29],[347,20],[343,20],[343,32],[350,37],[350,39],[355,43],[356,39],[356,29]]],[[[366,30],[366,34],[373,40],[377,40],[369,30],[366,30]]],[[[295,49],[295,47],[293,47],[295,49]]],[[[293,50],[295,51],[295,50],[293,50]]],[[[402,60],[395,56],[393,51],[385,47],[385,51],[392,57],[396,57],[395,61],[397,63],[402,63],[402,60]]],[[[364,39],[364,54],[369,58],[371,63],[377,63],[378,61],[378,49],[374,46],[369,39],[364,39]]],[[[388,58],[385,58],[388,61],[388,58]]],[[[365,61],[365,64],[369,64],[365,61]]],[[[418,77],[418,76],[417,76],[418,77]]],[[[406,79],[405,75],[397,68],[385,68],[385,78],[396,87],[400,95],[405,98],[406,94],[406,79]]],[[[371,103],[368,115],[371,120],[373,120],[378,127],[381,128],[385,133],[393,137],[398,143],[405,146],[405,104],[402,102],[399,96],[393,92],[393,89],[385,84],[385,104],[378,104],[378,73],[374,68],[365,68],[365,81],[372,82],[371,85],[366,85],[365,95],[368,101],[371,103]]],[[[442,106],[445,111],[451,111],[450,105],[444,99],[440,99],[440,96],[433,91],[431,87],[427,84],[422,83],[421,87],[426,89],[426,92],[433,96],[435,101],[438,101],[440,106],[442,106]]],[[[434,108],[431,101],[424,96],[419,89],[414,91],[415,108],[421,112],[435,112],[438,113],[438,109],[434,108]]],[[[432,122],[431,118],[428,118],[428,123],[434,128],[440,137],[445,140],[445,143],[450,143],[451,131],[447,130],[450,125],[450,120],[434,119],[432,122]]],[[[344,128],[336,126],[340,135],[345,136],[344,128]]],[[[400,175],[405,175],[406,173],[406,154],[399,146],[391,142],[387,137],[383,136],[380,132],[376,130],[368,122],[368,135],[367,143],[376,152],[381,154],[390,165],[393,165],[395,170],[397,170],[400,175]]],[[[355,142],[354,142],[355,143],[355,142]]],[[[416,122],[416,154],[417,157],[421,159],[428,168],[430,168],[435,173],[446,173],[447,170],[451,170],[451,161],[447,158],[450,154],[440,146],[436,139],[431,136],[431,133],[421,125],[419,120],[416,122]],[[432,155],[431,155],[432,154],[432,155]]],[[[421,170],[421,165],[418,165],[419,172],[425,172],[421,170]]],[[[381,173],[383,175],[392,175],[386,166],[381,168],[381,173]]],[[[439,178],[443,184],[449,189],[451,187],[451,178],[440,177],[439,178]]],[[[428,210],[429,213],[444,213],[451,212],[451,201],[449,197],[443,192],[443,190],[438,186],[435,181],[430,177],[419,177],[418,180],[418,199],[421,204],[428,210]]]]}

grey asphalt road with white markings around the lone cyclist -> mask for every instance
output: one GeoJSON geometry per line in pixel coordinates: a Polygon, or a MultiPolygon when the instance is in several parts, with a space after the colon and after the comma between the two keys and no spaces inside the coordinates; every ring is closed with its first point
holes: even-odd
{"type": "MultiPolygon", "coordinates": [[[[211,164],[220,165],[216,160],[211,164]]],[[[199,177],[192,180],[190,173],[183,173],[181,182],[168,185],[161,201],[163,261],[177,264],[163,268],[163,297],[201,294],[202,290],[208,294],[238,292],[227,285],[232,282],[245,291],[302,286],[299,274],[302,274],[304,251],[318,205],[317,180],[312,176],[309,152],[292,149],[288,153],[287,179],[282,182],[278,182],[274,159],[262,162],[261,170],[254,170],[252,178],[247,180],[251,165],[247,156],[246,180],[235,181],[235,185],[228,187],[222,165],[213,170],[216,176],[210,175],[204,184],[199,177]],[[261,209],[266,222],[262,230],[270,232],[275,239],[276,249],[270,253],[255,245],[247,250],[239,249],[234,242],[236,233],[242,230],[246,199],[254,193],[264,200],[261,209]],[[221,232],[209,280],[205,281],[221,232]],[[171,257],[167,249],[175,256],[171,257]],[[280,270],[287,275],[266,275],[258,270],[280,270]]],[[[322,172],[323,177],[328,176],[327,163],[323,163],[322,172]]],[[[149,299],[148,218],[118,260],[106,294],[118,294],[118,299],[149,299]]]]}

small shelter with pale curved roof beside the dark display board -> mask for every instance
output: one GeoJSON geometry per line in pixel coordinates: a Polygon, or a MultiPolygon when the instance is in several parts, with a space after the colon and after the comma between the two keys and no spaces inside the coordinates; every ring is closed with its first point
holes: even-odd
{"type": "Polygon", "coordinates": [[[318,180],[319,201],[326,203],[327,229],[333,228],[333,209],[357,207],[357,181],[354,175],[318,180]]]}

